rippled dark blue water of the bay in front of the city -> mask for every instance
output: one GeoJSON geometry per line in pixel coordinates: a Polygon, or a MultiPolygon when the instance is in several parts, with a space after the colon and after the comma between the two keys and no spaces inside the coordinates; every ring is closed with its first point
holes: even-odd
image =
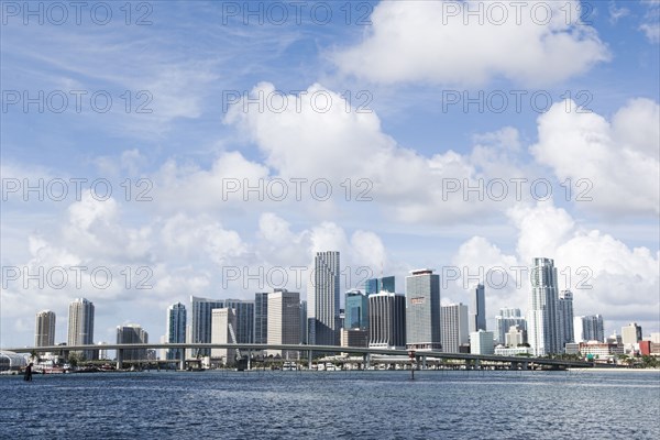
{"type": "Polygon", "coordinates": [[[658,372],[0,376],[0,438],[660,438],[658,372]]]}

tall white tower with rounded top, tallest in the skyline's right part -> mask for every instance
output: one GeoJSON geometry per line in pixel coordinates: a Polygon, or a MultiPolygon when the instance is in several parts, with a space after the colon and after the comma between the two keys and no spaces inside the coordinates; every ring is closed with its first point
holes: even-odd
{"type": "Polygon", "coordinates": [[[534,258],[530,271],[531,294],[527,317],[527,338],[534,355],[561,353],[558,312],[557,268],[551,258],[534,258]]]}

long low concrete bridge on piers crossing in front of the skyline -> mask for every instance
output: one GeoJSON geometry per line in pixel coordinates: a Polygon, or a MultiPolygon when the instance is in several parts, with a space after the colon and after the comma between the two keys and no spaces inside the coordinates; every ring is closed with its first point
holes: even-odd
{"type": "MultiPolygon", "coordinates": [[[[6,351],[13,351],[15,353],[64,353],[67,354],[72,351],[99,351],[99,350],[116,350],[117,351],[117,367],[121,369],[123,364],[123,351],[124,350],[147,350],[147,349],[238,349],[248,353],[261,352],[265,350],[282,350],[282,351],[298,351],[308,352],[308,362],[311,367],[311,353],[349,353],[349,354],[361,354],[364,359],[365,365],[369,365],[372,354],[381,354],[388,356],[411,356],[416,360],[419,367],[420,363],[426,364],[427,359],[439,359],[439,360],[462,360],[466,363],[473,363],[479,365],[481,362],[496,362],[496,363],[508,363],[512,367],[520,366],[524,370],[528,370],[529,365],[541,365],[551,369],[586,369],[592,367],[592,362],[583,361],[564,361],[559,359],[549,358],[531,358],[531,356],[499,356],[495,354],[469,354],[469,353],[444,353],[438,351],[426,351],[417,350],[411,352],[409,350],[396,350],[385,348],[360,348],[360,346],[337,346],[337,345],[302,345],[302,344],[251,344],[251,343],[116,343],[116,344],[87,344],[87,345],[50,345],[50,346],[23,346],[14,349],[2,349],[6,351]]],[[[250,358],[250,356],[249,356],[250,358]]],[[[190,359],[193,360],[193,359],[190,359]]],[[[172,360],[172,362],[178,362],[180,370],[186,367],[186,359],[172,360]]]]}

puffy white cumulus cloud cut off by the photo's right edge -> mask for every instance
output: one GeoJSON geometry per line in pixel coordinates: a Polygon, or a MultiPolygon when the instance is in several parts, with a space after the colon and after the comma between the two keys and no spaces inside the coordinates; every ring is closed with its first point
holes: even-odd
{"type": "Polygon", "coordinates": [[[571,197],[581,207],[658,215],[659,120],[658,103],[648,99],[630,100],[610,121],[573,101],[559,102],[539,118],[539,140],[530,151],[561,182],[586,179],[571,197]]]}

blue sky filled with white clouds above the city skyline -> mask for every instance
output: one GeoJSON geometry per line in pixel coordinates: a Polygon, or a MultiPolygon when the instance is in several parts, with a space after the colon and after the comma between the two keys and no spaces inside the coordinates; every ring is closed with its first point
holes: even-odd
{"type": "MultiPolygon", "coordinates": [[[[2,2],[0,346],[96,306],[420,267],[525,311],[534,257],[660,331],[660,1],[2,2]],[[311,266],[310,266],[311,265],[311,266]]],[[[342,298],[343,302],[343,298],[342,298]]]]}

